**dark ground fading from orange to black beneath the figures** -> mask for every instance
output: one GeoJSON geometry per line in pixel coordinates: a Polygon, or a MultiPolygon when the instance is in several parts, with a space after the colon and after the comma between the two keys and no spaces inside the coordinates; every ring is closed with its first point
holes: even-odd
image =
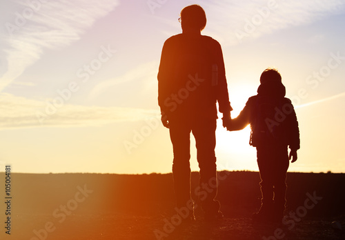
{"type": "MultiPolygon", "coordinates": [[[[12,173],[11,235],[3,203],[0,239],[345,239],[345,174],[289,172],[286,214],[296,217],[280,225],[250,221],[260,205],[258,172],[219,174],[226,176],[217,197],[224,219],[207,223],[197,208],[197,221],[183,227],[171,174],[12,173]],[[308,196],[317,197],[308,200],[309,209],[308,196]]],[[[193,172],[193,190],[198,178],[193,172]]]]}

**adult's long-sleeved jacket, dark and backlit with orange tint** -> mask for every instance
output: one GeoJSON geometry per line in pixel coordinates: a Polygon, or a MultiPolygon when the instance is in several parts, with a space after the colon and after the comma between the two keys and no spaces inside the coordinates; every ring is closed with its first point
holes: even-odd
{"type": "Polygon", "coordinates": [[[230,107],[219,43],[203,35],[177,34],[166,40],[158,72],[158,103],[168,119],[217,117],[230,107]]]}

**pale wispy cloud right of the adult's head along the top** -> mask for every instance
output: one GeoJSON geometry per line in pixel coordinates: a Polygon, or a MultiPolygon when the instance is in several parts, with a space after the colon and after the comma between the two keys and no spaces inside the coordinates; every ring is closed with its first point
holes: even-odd
{"type": "Polygon", "coordinates": [[[206,30],[223,45],[234,46],[244,39],[261,37],[277,30],[306,25],[345,10],[344,0],[252,0],[203,1],[206,30]],[[273,7],[270,6],[273,4],[273,7]]]}

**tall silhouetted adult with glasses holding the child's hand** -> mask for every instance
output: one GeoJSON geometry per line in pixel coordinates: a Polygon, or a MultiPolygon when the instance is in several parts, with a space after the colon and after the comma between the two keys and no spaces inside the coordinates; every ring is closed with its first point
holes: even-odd
{"type": "MultiPolygon", "coordinates": [[[[224,59],[220,44],[201,35],[206,26],[206,14],[199,5],[181,10],[182,33],[164,43],[158,73],[158,102],[161,121],[170,130],[174,153],[172,175],[177,207],[193,200],[190,194],[190,132],[193,133],[200,169],[199,199],[206,219],[223,215],[217,195],[215,130],[217,106],[223,121],[232,110],[224,59]]],[[[224,125],[224,124],[223,124],[224,125]]],[[[193,209],[187,219],[195,219],[193,209]]]]}

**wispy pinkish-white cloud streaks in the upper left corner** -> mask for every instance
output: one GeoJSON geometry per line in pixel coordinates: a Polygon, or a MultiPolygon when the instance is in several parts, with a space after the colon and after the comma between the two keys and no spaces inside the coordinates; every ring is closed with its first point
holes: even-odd
{"type": "Polygon", "coordinates": [[[0,78],[0,91],[40,59],[47,48],[63,48],[79,40],[86,29],[111,12],[119,1],[21,0],[11,3],[21,10],[3,24],[7,34],[1,45],[4,46],[7,70],[0,78]]]}

